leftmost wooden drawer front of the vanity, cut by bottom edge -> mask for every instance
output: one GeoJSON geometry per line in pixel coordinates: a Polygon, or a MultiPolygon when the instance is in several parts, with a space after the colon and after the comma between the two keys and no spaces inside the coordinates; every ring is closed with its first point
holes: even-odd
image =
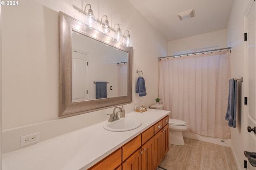
{"type": "Polygon", "coordinates": [[[119,148],[88,170],[114,170],[118,165],[122,163],[122,150],[119,148]]]}

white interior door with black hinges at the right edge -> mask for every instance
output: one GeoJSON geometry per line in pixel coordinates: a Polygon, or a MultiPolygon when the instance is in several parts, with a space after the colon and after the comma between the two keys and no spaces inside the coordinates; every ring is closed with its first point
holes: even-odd
{"type": "MultiPolygon", "coordinates": [[[[247,41],[245,45],[245,94],[248,97],[248,103],[245,105],[245,125],[248,127],[245,133],[245,150],[256,152],[256,135],[254,127],[256,126],[256,59],[255,59],[255,2],[251,0],[245,13],[245,30],[247,32],[247,41]]],[[[248,169],[256,170],[250,164],[248,158],[248,169]]]]}

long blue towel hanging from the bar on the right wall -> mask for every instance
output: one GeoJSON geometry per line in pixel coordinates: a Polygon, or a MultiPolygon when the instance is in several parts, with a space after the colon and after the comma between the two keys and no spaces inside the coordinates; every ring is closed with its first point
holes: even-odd
{"type": "Polygon", "coordinates": [[[228,126],[236,127],[237,82],[232,78],[228,86],[228,109],[225,119],[228,126]]]}

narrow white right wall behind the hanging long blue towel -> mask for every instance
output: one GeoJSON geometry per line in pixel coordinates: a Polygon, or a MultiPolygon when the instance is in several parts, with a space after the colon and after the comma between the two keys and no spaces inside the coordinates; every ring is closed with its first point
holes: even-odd
{"type": "MultiPolygon", "coordinates": [[[[250,0],[234,0],[228,22],[228,46],[231,52],[231,77],[244,76],[244,12],[250,0]]],[[[242,85],[242,103],[244,103],[244,86],[242,85]]],[[[240,169],[244,167],[244,106],[242,114],[237,115],[237,128],[231,128],[231,148],[240,169]]]]}

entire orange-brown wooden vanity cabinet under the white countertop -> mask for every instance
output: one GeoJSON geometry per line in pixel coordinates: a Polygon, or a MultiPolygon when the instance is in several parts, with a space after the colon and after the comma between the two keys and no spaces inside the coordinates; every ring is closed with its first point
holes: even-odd
{"type": "Polygon", "coordinates": [[[156,170],[169,149],[168,122],[164,117],[89,170],[156,170]]]}

